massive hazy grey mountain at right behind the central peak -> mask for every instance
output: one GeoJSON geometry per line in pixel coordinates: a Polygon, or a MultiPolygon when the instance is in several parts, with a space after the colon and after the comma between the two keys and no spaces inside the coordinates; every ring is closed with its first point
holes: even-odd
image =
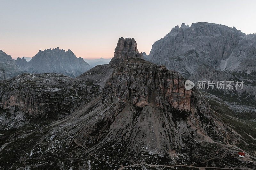
{"type": "Polygon", "coordinates": [[[202,64],[234,71],[244,59],[255,58],[255,46],[255,34],[246,35],[220,24],[193,23],[190,27],[172,28],[152,45],[145,59],[190,77],[202,64]]]}

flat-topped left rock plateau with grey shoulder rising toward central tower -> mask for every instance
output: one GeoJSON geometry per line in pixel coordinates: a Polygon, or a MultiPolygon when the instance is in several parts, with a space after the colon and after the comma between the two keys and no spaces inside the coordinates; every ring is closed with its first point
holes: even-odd
{"type": "Polygon", "coordinates": [[[96,66],[77,78],[44,73],[0,81],[0,108],[36,117],[66,117],[102,92],[111,69],[109,65],[96,66]]]}

